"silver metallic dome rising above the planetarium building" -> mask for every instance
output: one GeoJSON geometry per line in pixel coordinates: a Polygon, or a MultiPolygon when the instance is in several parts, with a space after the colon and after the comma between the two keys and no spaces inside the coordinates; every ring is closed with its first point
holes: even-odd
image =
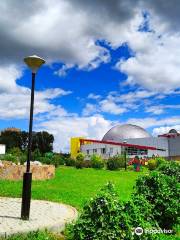
{"type": "Polygon", "coordinates": [[[122,139],[152,137],[144,128],[133,124],[117,125],[112,127],[103,137],[102,141],[119,142],[122,139]]]}

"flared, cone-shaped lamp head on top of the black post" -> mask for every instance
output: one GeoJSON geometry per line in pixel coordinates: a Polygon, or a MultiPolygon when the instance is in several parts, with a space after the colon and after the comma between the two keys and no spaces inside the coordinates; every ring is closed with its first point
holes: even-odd
{"type": "Polygon", "coordinates": [[[45,63],[45,60],[36,55],[32,55],[24,58],[24,62],[32,70],[33,73],[36,73],[37,70],[41,67],[41,65],[45,63]]]}

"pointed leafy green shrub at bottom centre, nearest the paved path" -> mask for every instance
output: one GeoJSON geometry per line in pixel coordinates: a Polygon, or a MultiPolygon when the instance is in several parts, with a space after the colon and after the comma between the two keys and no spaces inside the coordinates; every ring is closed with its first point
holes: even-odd
{"type": "Polygon", "coordinates": [[[69,228],[68,239],[104,240],[123,239],[126,228],[119,228],[120,205],[114,188],[108,184],[100,193],[84,206],[77,222],[69,228]]]}

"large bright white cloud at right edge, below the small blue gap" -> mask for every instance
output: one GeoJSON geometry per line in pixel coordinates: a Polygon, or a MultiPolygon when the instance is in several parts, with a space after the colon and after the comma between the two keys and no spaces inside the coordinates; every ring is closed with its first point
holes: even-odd
{"type": "Polygon", "coordinates": [[[158,92],[180,87],[180,33],[160,34],[135,32],[127,40],[135,56],[119,61],[116,68],[128,75],[128,84],[158,92]]]}

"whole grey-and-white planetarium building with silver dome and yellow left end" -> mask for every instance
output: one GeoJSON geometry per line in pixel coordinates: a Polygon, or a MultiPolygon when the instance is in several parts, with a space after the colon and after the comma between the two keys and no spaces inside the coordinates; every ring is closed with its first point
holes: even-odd
{"type": "Polygon", "coordinates": [[[79,152],[85,153],[87,159],[92,154],[104,159],[126,151],[129,158],[135,156],[162,156],[168,159],[180,159],[180,134],[172,129],[167,134],[153,137],[145,129],[132,125],[117,125],[111,128],[102,140],[83,137],[71,139],[71,157],[79,152]]]}

